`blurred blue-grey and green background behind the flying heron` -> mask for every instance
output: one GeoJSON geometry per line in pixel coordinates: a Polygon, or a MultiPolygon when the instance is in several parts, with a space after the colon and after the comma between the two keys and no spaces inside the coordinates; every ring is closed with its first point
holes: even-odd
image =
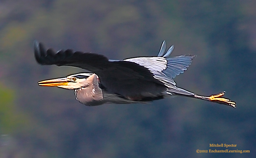
{"type": "Polygon", "coordinates": [[[0,0],[0,157],[253,157],[255,8],[251,0],[0,0]],[[237,108],[184,97],[84,106],[71,90],[38,86],[84,70],[37,64],[35,39],[110,59],[155,56],[166,40],[172,56],[197,55],[178,87],[225,90],[237,108]]]}

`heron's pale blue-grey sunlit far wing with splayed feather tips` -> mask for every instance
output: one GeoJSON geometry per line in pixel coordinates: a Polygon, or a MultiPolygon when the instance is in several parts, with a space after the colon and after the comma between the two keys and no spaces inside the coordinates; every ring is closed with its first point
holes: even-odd
{"type": "Polygon", "coordinates": [[[165,52],[165,49],[166,42],[164,40],[157,57],[129,58],[124,61],[134,62],[148,68],[148,70],[154,74],[155,79],[168,87],[167,93],[172,94],[172,92],[174,92],[178,94],[192,95],[193,93],[176,87],[173,78],[187,70],[187,67],[189,67],[192,59],[195,58],[196,55],[186,54],[168,58],[174,49],[174,45],[172,45],[167,52],[165,52]]]}

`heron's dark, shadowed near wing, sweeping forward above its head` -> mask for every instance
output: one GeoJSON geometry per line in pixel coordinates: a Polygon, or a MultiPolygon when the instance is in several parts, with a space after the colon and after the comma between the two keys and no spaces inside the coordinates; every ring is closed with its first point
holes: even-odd
{"type": "Polygon", "coordinates": [[[34,42],[34,55],[39,64],[89,70],[99,76],[101,84],[110,93],[134,100],[157,96],[165,89],[164,84],[156,80],[148,68],[134,62],[108,60],[104,55],[74,52],[71,49],[55,52],[53,49],[44,49],[39,42],[34,42]]]}

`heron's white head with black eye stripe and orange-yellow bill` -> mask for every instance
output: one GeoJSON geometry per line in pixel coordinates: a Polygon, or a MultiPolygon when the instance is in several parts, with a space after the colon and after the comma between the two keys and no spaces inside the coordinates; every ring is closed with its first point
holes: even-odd
{"type": "Polygon", "coordinates": [[[90,82],[92,82],[90,81],[90,76],[92,75],[92,73],[79,73],[63,78],[40,81],[38,84],[40,86],[57,86],[65,89],[78,89],[86,87],[90,82]]]}

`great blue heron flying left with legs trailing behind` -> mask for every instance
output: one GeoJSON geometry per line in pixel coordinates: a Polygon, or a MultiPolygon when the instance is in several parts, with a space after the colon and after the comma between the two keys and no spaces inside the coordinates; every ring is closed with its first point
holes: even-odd
{"type": "Polygon", "coordinates": [[[39,42],[34,42],[36,61],[43,65],[74,66],[92,73],[79,73],[64,78],[38,82],[40,86],[57,86],[74,89],[76,99],[87,105],[104,103],[130,104],[163,99],[170,95],[180,95],[207,100],[236,107],[236,103],[220,94],[201,96],[176,87],[175,78],[191,64],[195,55],[180,55],[169,58],[174,46],[167,52],[164,41],[157,57],[137,57],[124,60],[109,60],[97,53],[72,51],[55,52],[45,50],[39,42]]]}

